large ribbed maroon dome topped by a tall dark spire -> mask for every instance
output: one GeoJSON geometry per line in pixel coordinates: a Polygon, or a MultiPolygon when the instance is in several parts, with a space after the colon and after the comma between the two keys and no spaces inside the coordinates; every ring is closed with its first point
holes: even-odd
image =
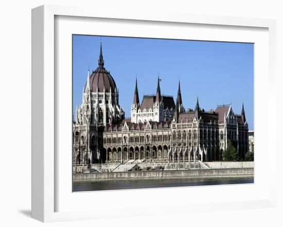
{"type": "Polygon", "coordinates": [[[115,92],[116,83],[110,72],[104,68],[104,61],[102,56],[102,47],[100,44],[100,55],[98,60],[98,68],[90,75],[90,84],[93,92],[115,92]]]}

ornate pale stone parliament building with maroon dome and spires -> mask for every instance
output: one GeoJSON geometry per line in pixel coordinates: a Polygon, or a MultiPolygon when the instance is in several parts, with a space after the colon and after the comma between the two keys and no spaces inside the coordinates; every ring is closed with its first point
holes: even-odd
{"type": "MultiPolygon", "coordinates": [[[[133,83],[134,85],[134,83],[133,83]]],[[[102,47],[98,67],[87,73],[82,104],[73,119],[73,164],[138,162],[189,162],[223,160],[230,140],[244,159],[249,150],[249,127],[244,106],[240,115],[231,105],[215,110],[184,108],[181,85],[176,97],[156,94],[139,101],[135,81],[131,118],[119,105],[119,91],[104,67],[102,47]]]]}

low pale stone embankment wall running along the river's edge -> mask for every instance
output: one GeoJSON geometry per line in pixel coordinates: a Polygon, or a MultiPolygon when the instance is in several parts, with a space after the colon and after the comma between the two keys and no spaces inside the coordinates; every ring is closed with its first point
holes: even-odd
{"type": "Polygon", "coordinates": [[[74,182],[103,180],[253,177],[254,168],[198,169],[182,171],[139,171],[116,173],[74,174],[74,182]]]}

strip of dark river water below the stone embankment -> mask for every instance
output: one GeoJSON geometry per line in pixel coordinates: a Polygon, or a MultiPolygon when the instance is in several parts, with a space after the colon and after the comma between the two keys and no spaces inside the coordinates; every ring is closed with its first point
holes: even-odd
{"type": "Polygon", "coordinates": [[[202,186],[219,184],[254,183],[254,178],[182,178],[182,179],[147,179],[147,180],[111,180],[97,182],[75,182],[73,192],[120,190],[133,188],[202,186]]]}

